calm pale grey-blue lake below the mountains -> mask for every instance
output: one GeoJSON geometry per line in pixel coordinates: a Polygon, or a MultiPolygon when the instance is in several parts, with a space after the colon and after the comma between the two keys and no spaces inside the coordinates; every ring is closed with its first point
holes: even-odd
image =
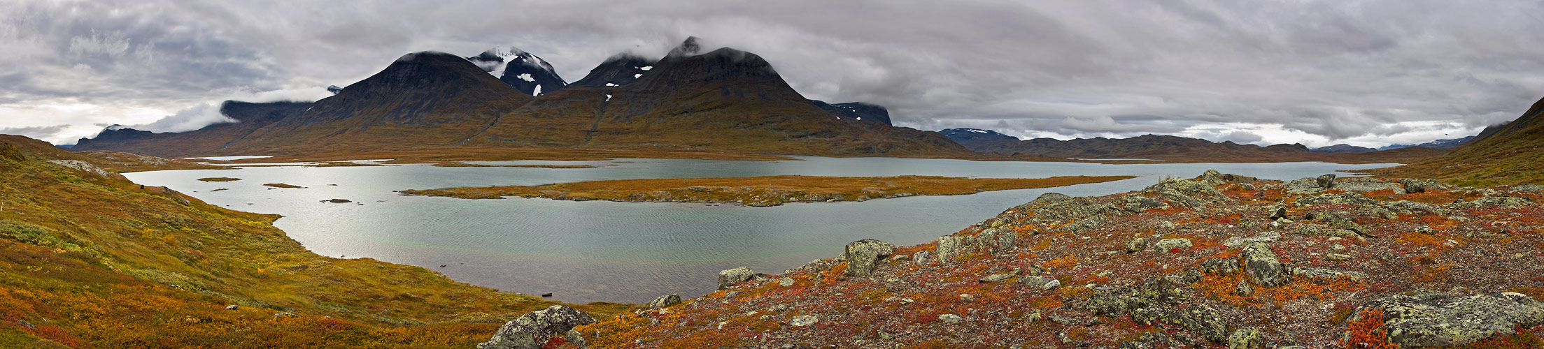
{"type": "Polygon", "coordinates": [[[429,165],[188,169],[125,174],[212,204],[281,214],[273,224],[321,255],[414,264],[488,288],[553,292],[573,303],[644,303],[658,295],[712,292],[718,271],[749,266],[777,274],[841,254],[862,238],[897,246],[926,243],[1045,192],[1107,195],[1146,188],[1163,177],[1206,169],[1271,180],[1394,166],[1336,163],[1022,163],[936,158],[823,158],[787,161],[655,160],[472,161],[483,165],[593,165],[587,169],[435,168],[429,165]],[[1138,178],[1045,189],[953,197],[905,197],[841,203],[743,208],[703,203],[613,203],[547,198],[465,200],[401,197],[394,191],[588,180],[755,175],[948,175],[1041,178],[1138,175],[1138,178]],[[198,181],[236,177],[239,181],[198,181]],[[289,183],[300,189],[272,189],[289,183]],[[227,191],[215,191],[227,188],[227,191]],[[355,203],[321,203],[347,198],[355,203]],[[440,268],[445,264],[445,268],[440,268]]]}

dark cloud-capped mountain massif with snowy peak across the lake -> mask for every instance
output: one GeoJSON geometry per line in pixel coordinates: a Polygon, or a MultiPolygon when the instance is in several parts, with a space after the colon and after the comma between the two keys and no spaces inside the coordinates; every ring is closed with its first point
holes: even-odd
{"type": "Polygon", "coordinates": [[[794,155],[970,157],[937,132],[896,128],[883,106],[794,91],[760,55],[687,38],[662,58],[618,54],[564,83],[534,54],[406,54],[315,103],[227,101],[236,123],[151,134],[105,129],[76,151],[148,155],[431,148],[594,148],[794,155]]]}

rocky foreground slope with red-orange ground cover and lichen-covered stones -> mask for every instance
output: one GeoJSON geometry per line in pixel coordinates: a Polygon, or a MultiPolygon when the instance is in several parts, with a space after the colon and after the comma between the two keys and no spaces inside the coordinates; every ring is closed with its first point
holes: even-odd
{"type": "Polygon", "coordinates": [[[1045,194],[933,243],[862,240],[777,275],[730,269],[701,298],[667,295],[539,338],[548,347],[1539,347],[1541,192],[1209,171],[1129,194],[1045,194]]]}

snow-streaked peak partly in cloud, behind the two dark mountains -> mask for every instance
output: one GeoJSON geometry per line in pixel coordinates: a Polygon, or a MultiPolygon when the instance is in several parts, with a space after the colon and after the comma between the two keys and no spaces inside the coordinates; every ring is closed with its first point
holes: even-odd
{"type": "Polygon", "coordinates": [[[517,48],[493,48],[466,60],[522,94],[540,95],[568,86],[553,65],[517,48]]]}

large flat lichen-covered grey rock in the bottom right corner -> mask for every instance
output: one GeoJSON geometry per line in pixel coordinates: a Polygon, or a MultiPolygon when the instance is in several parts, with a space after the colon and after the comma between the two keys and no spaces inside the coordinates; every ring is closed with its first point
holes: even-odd
{"type": "MultiPolygon", "coordinates": [[[[1390,295],[1360,309],[1383,311],[1390,343],[1402,347],[1467,346],[1507,337],[1521,327],[1544,324],[1541,303],[1527,295],[1390,295]]],[[[1360,318],[1357,309],[1356,321],[1360,318]]]]}

